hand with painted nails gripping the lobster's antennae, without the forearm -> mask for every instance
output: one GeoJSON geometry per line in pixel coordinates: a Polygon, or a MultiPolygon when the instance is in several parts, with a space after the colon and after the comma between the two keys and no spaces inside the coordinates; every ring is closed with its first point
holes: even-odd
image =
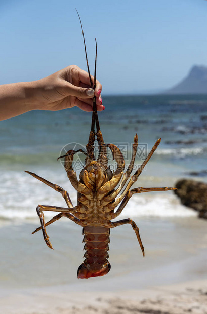
{"type": "MultiPolygon", "coordinates": [[[[94,77],[91,76],[94,84],[94,77]]],[[[35,83],[35,102],[39,110],[62,110],[74,106],[90,112],[96,96],[97,110],[102,111],[102,85],[96,80],[95,91],[91,88],[89,74],[76,65],[70,65],[35,83]],[[88,94],[87,94],[88,92],[88,94]]]]}

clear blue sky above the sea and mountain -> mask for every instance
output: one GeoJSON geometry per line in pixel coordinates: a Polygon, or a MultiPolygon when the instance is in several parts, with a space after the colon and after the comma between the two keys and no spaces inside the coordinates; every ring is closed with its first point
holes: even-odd
{"type": "Polygon", "coordinates": [[[103,95],[170,88],[207,66],[206,0],[1,0],[0,84],[86,69],[77,8],[103,95]]]}

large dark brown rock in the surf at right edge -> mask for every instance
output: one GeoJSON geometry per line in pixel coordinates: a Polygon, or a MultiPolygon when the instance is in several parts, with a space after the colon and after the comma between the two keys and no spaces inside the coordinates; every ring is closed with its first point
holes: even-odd
{"type": "Polygon", "coordinates": [[[207,184],[194,180],[179,180],[174,190],[181,203],[198,211],[199,218],[207,219],[207,184]]]}

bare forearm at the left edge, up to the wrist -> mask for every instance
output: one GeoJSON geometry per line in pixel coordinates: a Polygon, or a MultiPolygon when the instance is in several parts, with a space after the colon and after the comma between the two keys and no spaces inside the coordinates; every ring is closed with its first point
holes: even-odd
{"type": "Polygon", "coordinates": [[[38,109],[34,89],[35,82],[0,85],[0,120],[38,109]]]}

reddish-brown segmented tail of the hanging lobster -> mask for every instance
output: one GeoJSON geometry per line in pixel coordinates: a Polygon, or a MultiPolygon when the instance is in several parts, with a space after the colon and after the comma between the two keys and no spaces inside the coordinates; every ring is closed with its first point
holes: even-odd
{"type": "Polygon", "coordinates": [[[77,278],[103,276],[111,268],[108,262],[110,229],[105,227],[84,227],[84,257],[86,259],[77,270],[77,278]]]}

